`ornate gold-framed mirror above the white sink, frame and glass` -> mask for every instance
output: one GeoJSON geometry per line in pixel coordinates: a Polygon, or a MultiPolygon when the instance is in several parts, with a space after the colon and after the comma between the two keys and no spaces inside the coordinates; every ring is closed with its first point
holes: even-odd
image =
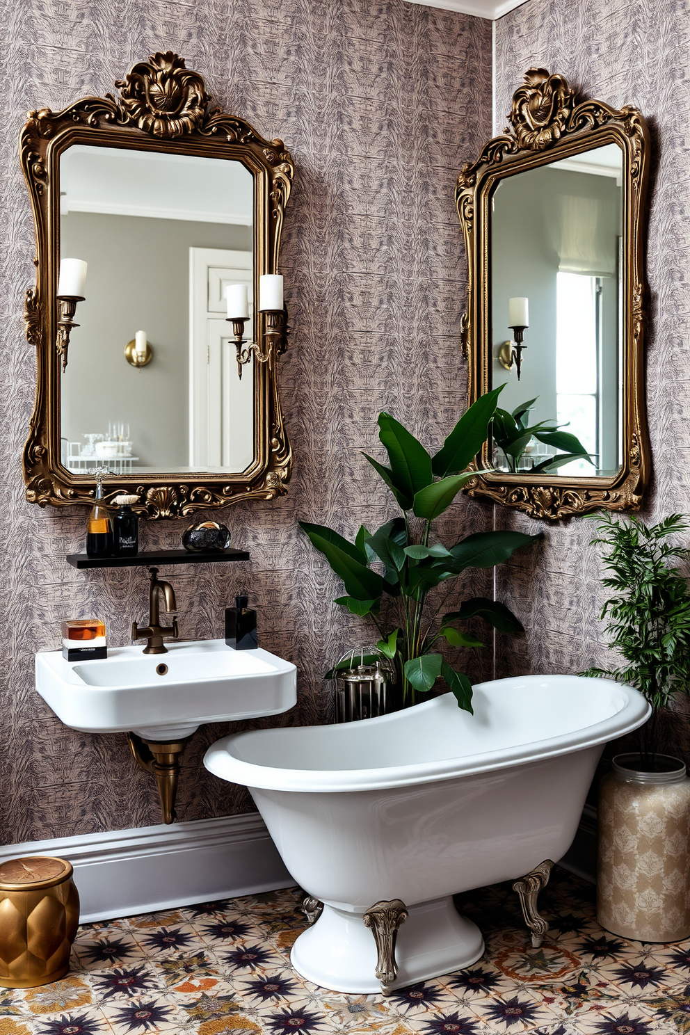
{"type": "Polygon", "coordinates": [[[270,499],[291,466],[276,274],[292,159],[175,54],[116,86],[119,100],[31,112],[22,131],[37,242],[27,498],[91,503],[89,472],[107,467],[108,496],[139,495],[150,518],[270,499]]]}

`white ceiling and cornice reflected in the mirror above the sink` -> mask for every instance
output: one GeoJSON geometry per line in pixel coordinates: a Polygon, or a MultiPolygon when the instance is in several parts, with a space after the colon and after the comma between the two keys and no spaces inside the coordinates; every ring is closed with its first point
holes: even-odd
{"type": "Polygon", "coordinates": [[[70,147],[60,158],[60,211],[251,226],[253,177],[239,161],[70,147]]]}

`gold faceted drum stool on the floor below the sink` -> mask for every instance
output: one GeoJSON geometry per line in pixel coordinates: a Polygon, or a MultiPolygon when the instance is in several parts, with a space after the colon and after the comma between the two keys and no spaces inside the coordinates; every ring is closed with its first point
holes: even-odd
{"type": "Polygon", "coordinates": [[[34,988],[64,977],[79,927],[71,863],[53,856],[0,865],[0,985],[34,988]]]}

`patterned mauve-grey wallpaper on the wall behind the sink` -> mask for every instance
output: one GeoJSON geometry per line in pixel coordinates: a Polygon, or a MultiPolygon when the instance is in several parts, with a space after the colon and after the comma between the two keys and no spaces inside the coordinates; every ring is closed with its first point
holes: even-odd
{"type": "MultiPolygon", "coordinates": [[[[378,412],[390,410],[438,446],[466,406],[457,333],[464,258],[453,190],[460,165],[490,135],[491,30],[403,0],[23,0],[7,5],[5,19],[0,786],[2,840],[16,842],[159,822],[152,780],[129,758],[124,735],[66,729],[34,689],[33,653],[58,646],[62,618],[102,616],[110,642],[127,643],[147,590],[144,569],[78,572],[66,564],[82,548],[85,510],[24,501],[20,460],[35,380],[21,319],[34,254],[16,158],[26,111],[102,94],[136,60],[171,49],[206,76],[227,110],[283,138],[293,153],[281,264],[293,333],[280,374],[295,454],[290,494],[223,514],[235,544],[250,550],[249,564],[176,568],[171,580],[184,637],[219,635],[223,607],[246,588],[262,645],[299,668],[299,705],[282,721],[314,722],[323,717],[322,673],[362,632],[329,603],[335,580],[296,522],[354,534],[363,521],[385,521],[390,502],[358,455],[377,441],[378,412]]],[[[146,275],[155,250],[141,259],[146,275]]],[[[488,507],[463,499],[445,531],[481,531],[490,520],[488,507]]],[[[185,525],[144,527],[144,549],[178,545],[185,525]]],[[[543,571],[540,579],[551,585],[543,571]]],[[[482,575],[473,589],[490,593],[490,582],[482,575]]],[[[545,599],[556,592],[553,581],[545,599]]],[[[489,651],[482,663],[488,675],[489,651]]],[[[227,731],[204,728],[187,749],[180,819],[251,807],[242,789],[202,768],[206,744],[227,731]]]]}

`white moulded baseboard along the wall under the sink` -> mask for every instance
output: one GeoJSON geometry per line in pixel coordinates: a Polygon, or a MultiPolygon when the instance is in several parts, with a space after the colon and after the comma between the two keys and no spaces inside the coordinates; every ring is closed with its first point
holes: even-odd
{"type": "Polygon", "coordinates": [[[74,867],[82,923],[294,884],[258,812],[0,848],[0,863],[57,855],[74,867]]]}

